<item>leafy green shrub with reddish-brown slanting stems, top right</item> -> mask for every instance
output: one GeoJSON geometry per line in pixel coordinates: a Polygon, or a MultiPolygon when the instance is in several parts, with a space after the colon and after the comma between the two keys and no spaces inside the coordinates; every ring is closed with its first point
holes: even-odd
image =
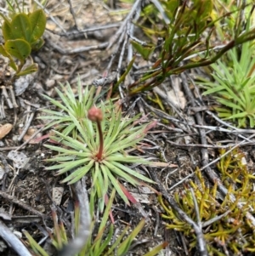
{"type": "MultiPolygon", "coordinates": [[[[234,5],[233,2],[231,4],[234,5]]],[[[255,38],[254,26],[246,31],[243,31],[242,26],[243,22],[251,19],[252,11],[249,13],[246,10],[252,9],[252,3],[250,6],[235,4],[234,11],[225,12],[224,9],[224,14],[219,17],[215,14],[218,3],[212,0],[195,0],[190,3],[167,0],[161,1],[160,5],[161,11],[152,3],[147,5],[143,10],[144,17],[139,21],[139,27],[150,37],[150,42],[142,42],[139,38],[130,41],[134,50],[145,60],[150,59],[152,53],[153,56],[160,53],[150,70],[142,72],[135,82],[127,86],[129,95],[148,91],[171,75],[211,65],[231,48],[248,41],[252,42],[255,38]],[[233,26],[224,26],[224,30],[221,30],[223,40],[227,38],[227,43],[214,39],[218,37],[215,33],[218,31],[217,28],[221,28],[223,23],[233,21],[231,14],[235,13],[236,17],[241,17],[243,12],[247,13],[243,22],[236,19],[233,26]],[[156,44],[157,37],[163,38],[160,45],[156,44]],[[218,44],[221,44],[221,47],[218,47],[218,44]]]]}

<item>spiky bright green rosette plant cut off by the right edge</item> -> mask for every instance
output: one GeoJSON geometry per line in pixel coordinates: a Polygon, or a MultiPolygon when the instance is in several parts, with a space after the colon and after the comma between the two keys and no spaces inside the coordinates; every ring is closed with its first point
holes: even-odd
{"type": "Polygon", "coordinates": [[[255,48],[244,43],[227,54],[228,65],[218,60],[212,65],[215,82],[201,82],[223,107],[217,107],[218,116],[237,122],[237,126],[255,126],[255,48]],[[239,57],[240,56],[240,57],[239,57]]]}

